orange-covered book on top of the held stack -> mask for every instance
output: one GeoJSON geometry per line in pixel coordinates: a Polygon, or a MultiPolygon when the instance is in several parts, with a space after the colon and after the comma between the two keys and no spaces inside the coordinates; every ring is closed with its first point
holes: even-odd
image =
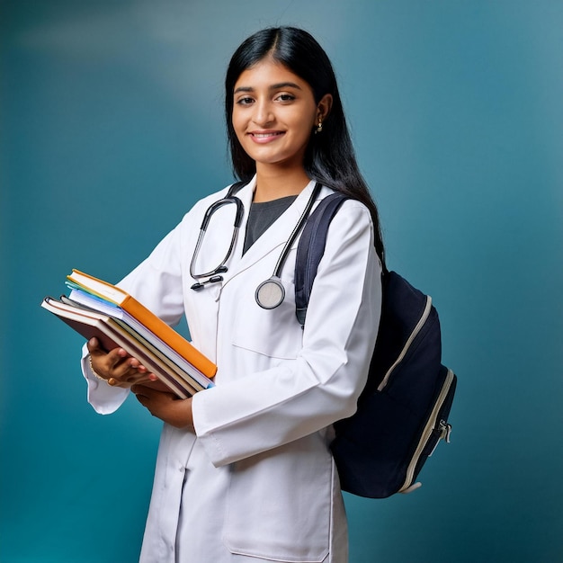
{"type": "Polygon", "coordinates": [[[201,371],[203,375],[208,378],[215,375],[217,366],[209,358],[197,350],[182,335],[179,335],[172,326],[166,325],[161,318],[156,317],[153,312],[126,291],[78,270],[73,270],[70,275],[67,275],[67,279],[79,288],[122,308],[164,341],[165,344],[168,344],[176,353],[180,354],[184,360],[201,371]]]}

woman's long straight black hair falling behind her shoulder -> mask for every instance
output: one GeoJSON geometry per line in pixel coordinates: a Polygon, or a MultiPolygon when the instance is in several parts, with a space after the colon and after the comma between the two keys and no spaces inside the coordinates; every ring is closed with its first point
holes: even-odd
{"type": "Polygon", "coordinates": [[[225,78],[225,117],[234,173],[240,180],[247,182],[256,172],[255,161],[238,142],[232,123],[235,84],[247,68],[265,57],[273,58],[305,80],[313,90],[316,103],[325,94],[332,94],[332,107],[323,121],[322,132],[315,135],[311,131],[305,153],[305,170],[312,180],[350,195],[366,205],[375,228],[375,248],[384,262],[379,213],[356,162],[335,72],[326,52],[308,31],[295,27],[257,31],[243,41],[231,58],[225,78]]]}

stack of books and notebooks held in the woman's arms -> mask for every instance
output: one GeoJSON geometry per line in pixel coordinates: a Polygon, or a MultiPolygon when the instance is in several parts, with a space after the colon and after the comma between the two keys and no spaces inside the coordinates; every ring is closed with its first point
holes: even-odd
{"type": "Polygon", "coordinates": [[[126,291],[77,270],[67,286],[68,296],[46,297],[41,307],[106,352],[123,348],[179,398],[213,386],[217,366],[126,291]]]}

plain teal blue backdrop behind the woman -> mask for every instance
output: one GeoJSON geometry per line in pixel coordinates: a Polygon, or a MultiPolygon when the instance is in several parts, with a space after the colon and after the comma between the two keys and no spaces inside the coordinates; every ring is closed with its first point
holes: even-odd
{"type": "MultiPolygon", "coordinates": [[[[40,309],[110,281],[231,181],[228,58],[290,23],[332,58],[389,265],[432,294],[452,443],[410,496],[346,496],[351,562],[563,561],[563,3],[0,3],[0,561],[129,563],[159,424],[85,402],[40,309]]],[[[209,523],[213,525],[213,523],[209,523]]]]}

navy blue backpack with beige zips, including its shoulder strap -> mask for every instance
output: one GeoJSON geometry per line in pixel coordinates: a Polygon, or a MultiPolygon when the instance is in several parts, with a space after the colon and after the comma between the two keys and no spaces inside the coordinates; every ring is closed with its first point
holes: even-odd
{"type": "MultiPolygon", "coordinates": [[[[347,197],[334,193],[311,213],[299,239],[295,299],[305,324],[326,232],[347,197]]],[[[442,365],[440,321],[432,299],[398,273],[383,273],[379,334],[358,409],[335,424],[331,444],[343,490],[384,498],[419,487],[434,448],[450,440],[455,374],[442,365]]]]}

